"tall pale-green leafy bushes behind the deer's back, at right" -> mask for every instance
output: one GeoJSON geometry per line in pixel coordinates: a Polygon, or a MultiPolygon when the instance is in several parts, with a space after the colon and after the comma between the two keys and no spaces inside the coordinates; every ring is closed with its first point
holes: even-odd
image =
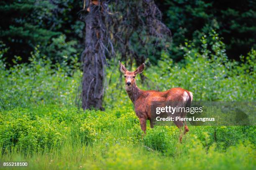
{"type": "Polygon", "coordinates": [[[173,63],[163,53],[158,66],[145,71],[146,76],[157,80],[158,90],[183,87],[193,92],[194,101],[254,101],[256,51],[252,49],[247,57],[242,56],[241,63],[231,61],[218,34],[212,31],[209,36],[214,42],[208,44],[203,36],[201,49],[188,42],[181,46],[185,52],[183,62],[173,63]]]}

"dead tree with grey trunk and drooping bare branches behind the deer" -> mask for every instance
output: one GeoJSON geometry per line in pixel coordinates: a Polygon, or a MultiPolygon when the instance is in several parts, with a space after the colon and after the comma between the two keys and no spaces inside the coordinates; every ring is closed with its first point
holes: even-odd
{"type": "Polygon", "coordinates": [[[140,65],[145,61],[148,50],[158,47],[162,41],[167,42],[171,32],[161,23],[161,12],[154,0],[83,2],[84,8],[80,12],[86,28],[85,48],[81,56],[82,108],[102,109],[106,53],[114,56],[115,48],[121,53],[122,60],[130,58],[131,65],[133,60],[140,65]]]}

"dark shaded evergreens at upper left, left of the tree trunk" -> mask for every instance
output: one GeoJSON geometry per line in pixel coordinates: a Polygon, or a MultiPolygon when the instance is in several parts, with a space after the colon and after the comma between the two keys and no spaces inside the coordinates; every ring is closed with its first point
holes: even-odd
{"type": "MultiPolygon", "coordinates": [[[[82,1],[75,0],[2,0],[0,2],[0,39],[10,48],[7,62],[14,56],[28,62],[30,52],[40,44],[40,51],[51,60],[62,56],[53,51],[54,40],[67,37],[82,52],[84,23],[78,20],[82,1]],[[79,42],[79,43],[78,43],[79,42]]],[[[59,49],[61,50],[61,49],[59,49]]],[[[8,57],[7,57],[8,56],[8,57]]]]}

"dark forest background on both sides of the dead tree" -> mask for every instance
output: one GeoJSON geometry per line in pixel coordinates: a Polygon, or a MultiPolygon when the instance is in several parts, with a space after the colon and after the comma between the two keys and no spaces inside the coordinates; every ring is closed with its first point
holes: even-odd
{"type": "MultiPolygon", "coordinates": [[[[80,56],[84,48],[85,24],[80,20],[81,0],[1,0],[0,40],[9,48],[4,54],[13,65],[15,56],[28,62],[31,51],[38,48],[53,62],[80,56]],[[39,45],[39,46],[38,46],[39,45]]],[[[256,1],[159,0],[162,21],[172,32],[170,57],[183,59],[179,45],[216,30],[226,45],[230,59],[239,60],[256,48],[256,1]]],[[[210,38],[210,37],[209,37],[210,38]]],[[[209,40],[210,41],[210,40],[209,40]]],[[[160,54],[147,56],[156,64],[160,54]]]]}

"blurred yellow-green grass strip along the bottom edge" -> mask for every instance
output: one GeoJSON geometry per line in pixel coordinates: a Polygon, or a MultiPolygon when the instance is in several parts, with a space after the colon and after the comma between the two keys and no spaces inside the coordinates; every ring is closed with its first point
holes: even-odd
{"type": "MultiPolygon", "coordinates": [[[[67,141],[68,142],[68,141],[67,141]]],[[[105,143],[94,146],[65,144],[60,150],[23,156],[20,153],[5,155],[3,161],[27,161],[28,169],[255,169],[255,151],[250,146],[237,145],[225,153],[190,148],[187,154],[179,153],[185,144],[179,144],[175,157],[148,151],[143,146],[116,144],[105,148],[105,143]],[[103,146],[102,146],[103,145],[103,146]],[[103,151],[103,150],[107,151],[103,151]]]]}

